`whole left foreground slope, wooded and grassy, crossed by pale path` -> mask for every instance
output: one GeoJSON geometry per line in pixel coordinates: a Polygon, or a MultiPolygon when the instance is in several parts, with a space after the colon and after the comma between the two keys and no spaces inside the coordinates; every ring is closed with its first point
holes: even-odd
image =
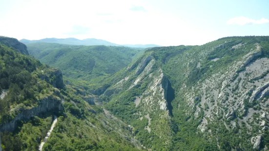
{"type": "Polygon", "coordinates": [[[0,140],[4,151],[141,149],[128,125],[63,83],[58,69],[0,44],[0,140]],[[88,101],[90,104],[88,104],[88,101]]]}

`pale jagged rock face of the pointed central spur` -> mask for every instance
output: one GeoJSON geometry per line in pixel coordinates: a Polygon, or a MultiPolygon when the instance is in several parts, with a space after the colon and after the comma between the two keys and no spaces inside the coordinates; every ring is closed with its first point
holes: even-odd
{"type": "MultiPolygon", "coordinates": [[[[154,133],[157,137],[161,137],[164,143],[167,143],[171,133],[167,128],[170,120],[167,103],[168,79],[164,76],[163,70],[157,67],[155,58],[148,54],[127,67],[124,72],[125,77],[109,87],[103,97],[112,97],[113,101],[114,96],[135,92],[143,87],[141,94],[132,95],[134,97],[132,104],[135,104],[134,110],[137,111],[134,114],[138,116],[138,121],[148,120],[148,124],[145,125],[148,133],[154,133]]],[[[124,100],[118,98],[115,101],[124,100]]]]}

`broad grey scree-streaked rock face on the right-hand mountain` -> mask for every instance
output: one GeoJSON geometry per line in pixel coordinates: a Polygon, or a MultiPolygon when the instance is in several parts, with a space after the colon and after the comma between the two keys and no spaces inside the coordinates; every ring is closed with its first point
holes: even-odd
{"type": "MultiPolygon", "coordinates": [[[[183,71],[186,79],[195,76],[193,70],[202,70],[200,63],[205,56],[228,43],[226,41],[211,50],[196,54],[196,57],[188,58],[189,62],[182,62],[181,65],[186,67],[183,71]]],[[[240,43],[238,47],[235,46],[232,47],[236,48],[234,50],[226,49],[241,50],[245,54],[236,56],[229,65],[219,68],[214,66],[221,64],[224,58],[211,59],[210,74],[204,74],[191,87],[187,80],[183,82],[180,93],[184,101],[179,102],[178,109],[200,120],[197,129],[205,135],[212,135],[212,129],[215,129],[212,124],[218,124],[228,132],[239,130],[240,136],[251,142],[253,149],[259,150],[269,122],[269,59],[259,43],[240,43]],[[242,131],[247,131],[248,135],[242,134],[242,131]]]]}

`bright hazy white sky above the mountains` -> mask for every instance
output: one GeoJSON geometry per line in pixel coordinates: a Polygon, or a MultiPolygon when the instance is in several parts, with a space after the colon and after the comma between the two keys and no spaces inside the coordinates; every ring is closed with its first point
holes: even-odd
{"type": "Polygon", "coordinates": [[[269,36],[269,0],[0,0],[0,35],[201,45],[269,36]]]}

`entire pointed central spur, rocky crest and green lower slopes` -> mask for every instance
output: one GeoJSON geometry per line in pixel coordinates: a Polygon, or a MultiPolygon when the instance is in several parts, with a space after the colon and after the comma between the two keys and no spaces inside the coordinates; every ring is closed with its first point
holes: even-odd
{"type": "Polygon", "coordinates": [[[146,148],[162,150],[172,136],[169,127],[167,90],[169,81],[156,59],[146,53],[123,71],[116,84],[102,98],[106,108],[133,127],[136,138],[146,148]]]}

